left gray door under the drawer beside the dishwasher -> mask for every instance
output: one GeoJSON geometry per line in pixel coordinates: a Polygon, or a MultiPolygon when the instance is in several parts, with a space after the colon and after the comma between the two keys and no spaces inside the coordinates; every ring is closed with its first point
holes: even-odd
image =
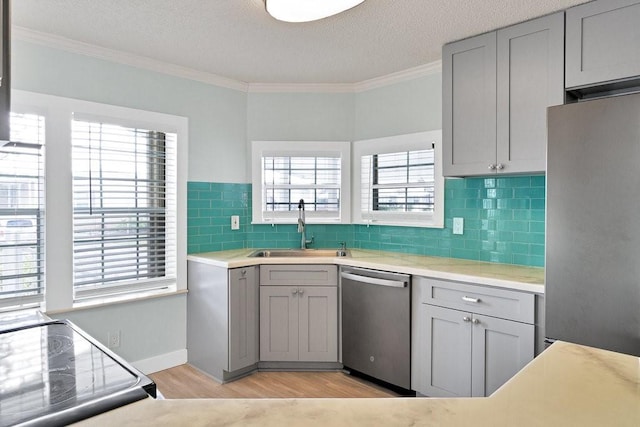
{"type": "Polygon", "coordinates": [[[424,304],[427,352],[421,390],[432,397],[471,395],[471,314],[424,304]]]}

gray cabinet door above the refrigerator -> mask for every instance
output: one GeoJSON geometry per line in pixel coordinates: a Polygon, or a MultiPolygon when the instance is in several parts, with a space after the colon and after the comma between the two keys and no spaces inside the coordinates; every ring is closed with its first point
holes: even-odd
{"type": "Polygon", "coordinates": [[[640,1],[601,0],[567,10],[566,86],[640,75],[640,1]]]}

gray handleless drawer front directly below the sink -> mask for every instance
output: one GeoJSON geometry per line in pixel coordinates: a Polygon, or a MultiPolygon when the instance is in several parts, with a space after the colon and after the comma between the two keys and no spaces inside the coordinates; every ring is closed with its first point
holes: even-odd
{"type": "Polygon", "coordinates": [[[338,267],[324,264],[261,265],[260,285],[337,286],[338,267]]]}

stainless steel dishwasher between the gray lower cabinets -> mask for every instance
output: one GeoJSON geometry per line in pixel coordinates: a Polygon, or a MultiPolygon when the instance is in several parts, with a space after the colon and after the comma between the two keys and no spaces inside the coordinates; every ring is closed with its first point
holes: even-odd
{"type": "Polygon", "coordinates": [[[411,388],[411,276],[342,267],[342,363],[411,388]]]}

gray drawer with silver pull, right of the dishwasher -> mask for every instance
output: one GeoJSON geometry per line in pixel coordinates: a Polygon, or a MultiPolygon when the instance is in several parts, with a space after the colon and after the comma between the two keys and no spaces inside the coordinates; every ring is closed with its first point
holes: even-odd
{"type": "Polygon", "coordinates": [[[534,323],[533,294],[435,279],[422,283],[421,303],[534,323]]]}

